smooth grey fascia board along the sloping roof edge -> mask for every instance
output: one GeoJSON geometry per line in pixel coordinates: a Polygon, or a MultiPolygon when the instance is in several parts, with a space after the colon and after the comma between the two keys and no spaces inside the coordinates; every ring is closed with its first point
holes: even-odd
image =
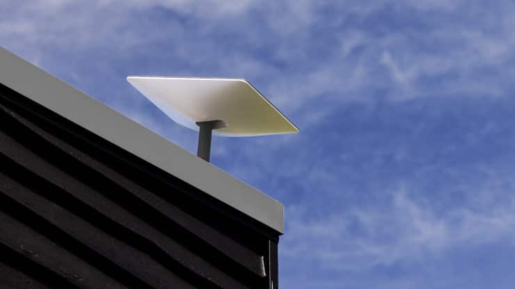
{"type": "Polygon", "coordinates": [[[284,207],[250,185],[0,47],[0,83],[283,233],[284,207]]]}

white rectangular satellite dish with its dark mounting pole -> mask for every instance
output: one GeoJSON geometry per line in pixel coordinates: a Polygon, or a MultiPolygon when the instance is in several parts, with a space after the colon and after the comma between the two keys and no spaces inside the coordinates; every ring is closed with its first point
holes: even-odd
{"type": "Polygon", "coordinates": [[[197,155],[209,161],[211,135],[298,133],[299,129],[244,79],[127,76],[174,122],[199,131],[197,155]]]}

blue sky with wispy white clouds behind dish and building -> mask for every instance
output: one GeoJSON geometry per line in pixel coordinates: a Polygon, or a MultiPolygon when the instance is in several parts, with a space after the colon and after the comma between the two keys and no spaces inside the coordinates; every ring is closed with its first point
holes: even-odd
{"type": "Polygon", "coordinates": [[[0,45],[196,152],[127,75],[251,81],[299,127],[214,137],[285,205],[280,288],[513,288],[515,2],[0,0],[0,45]]]}

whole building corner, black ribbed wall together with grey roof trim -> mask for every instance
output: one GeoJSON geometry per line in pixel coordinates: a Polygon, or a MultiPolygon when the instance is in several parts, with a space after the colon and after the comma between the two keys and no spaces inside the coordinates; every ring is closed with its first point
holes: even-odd
{"type": "Polygon", "coordinates": [[[283,206],[0,48],[0,288],[278,288],[283,206]]]}

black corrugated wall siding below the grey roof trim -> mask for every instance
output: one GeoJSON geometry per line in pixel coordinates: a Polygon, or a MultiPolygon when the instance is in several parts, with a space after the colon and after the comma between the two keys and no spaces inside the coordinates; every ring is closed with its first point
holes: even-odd
{"type": "Polygon", "coordinates": [[[0,288],[278,288],[279,233],[4,86],[0,164],[0,288]]]}

